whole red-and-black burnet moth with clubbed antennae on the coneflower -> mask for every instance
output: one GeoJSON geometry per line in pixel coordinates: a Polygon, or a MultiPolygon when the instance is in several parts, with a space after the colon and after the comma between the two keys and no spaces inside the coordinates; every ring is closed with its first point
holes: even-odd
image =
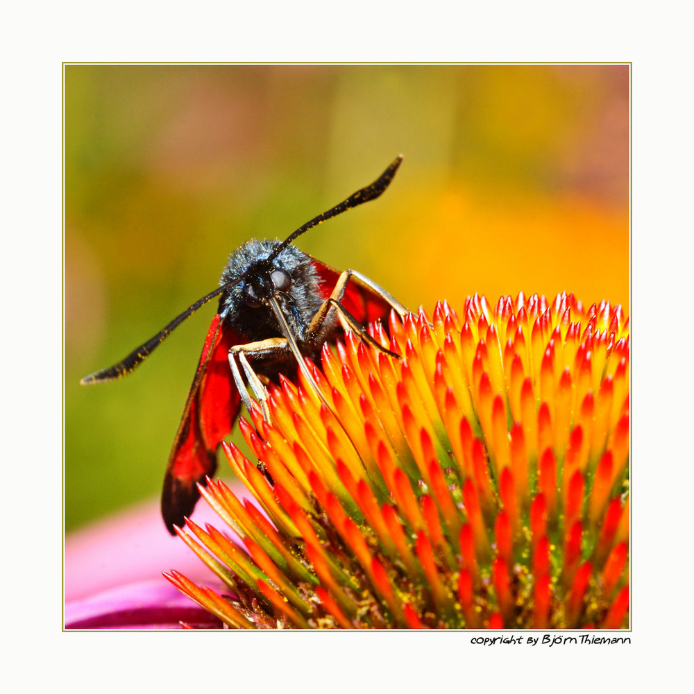
{"type": "Polygon", "coordinates": [[[164,477],[162,517],[171,534],[175,534],[174,525],[183,526],[192,513],[200,497],[197,484],[205,484],[205,477],[214,475],[217,448],[231,432],[242,402],[251,408],[239,364],[262,401],[261,380],[276,379],[280,373],[296,380],[291,378],[296,374],[296,362],[313,384],[304,357],[317,359],[325,342],[338,339],[340,326],[390,353],[365,327],[385,320],[391,309],[404,317],[409,313],[405,307],[361,273],[339,272],[299,251],[292,242],[326,219],[378,198],[402,160],[398,156],[371,185],[314,217],[284,241],[251,239],[240,246],[230,255],[217,289],[121,362],[81,380],[92,384],[128,375],[190,314],[219,296],[219,309],[205,338],[164,477]]]}

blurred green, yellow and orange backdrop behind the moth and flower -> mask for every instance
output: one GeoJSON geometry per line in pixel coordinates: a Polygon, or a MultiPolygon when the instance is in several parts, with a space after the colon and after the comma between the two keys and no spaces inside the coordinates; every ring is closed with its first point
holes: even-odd
{"type": "Polygon", "coordinates": [[[81,376],[398,153],[382,198],[299,248],[413,309],[566,289],[629,311],[625,65],[65,67],[67,530],[160,493],[216,302],[128,378],[81,376]]]}

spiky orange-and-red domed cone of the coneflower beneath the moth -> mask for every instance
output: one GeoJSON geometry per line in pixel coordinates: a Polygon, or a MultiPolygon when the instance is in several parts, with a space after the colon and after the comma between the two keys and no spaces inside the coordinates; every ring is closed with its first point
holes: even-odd
{"type": "Polygon", "coordinates": [[[393,313],[369,332],[403,359],[348,333],[280,378],[241,423],[257,462],[224,446],[262,512],[210,481],[240,540],[179,533],[224,594],[169,580],[238,628],[627,626],[628,319],[489,306],[393,313]]]}

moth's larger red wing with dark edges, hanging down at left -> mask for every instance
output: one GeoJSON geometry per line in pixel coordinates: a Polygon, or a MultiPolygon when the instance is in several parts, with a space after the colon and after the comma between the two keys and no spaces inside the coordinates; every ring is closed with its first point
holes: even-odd
{"type": "Polygon", "coordinates": [[[162,491],[162,517],[171,534],[182,526],[200,498],[197,482],[217,468],[217,447],[232,430],[241,397],[231,378],[229,348],[242,340],[214,316],[188,393],[162,491]]]}

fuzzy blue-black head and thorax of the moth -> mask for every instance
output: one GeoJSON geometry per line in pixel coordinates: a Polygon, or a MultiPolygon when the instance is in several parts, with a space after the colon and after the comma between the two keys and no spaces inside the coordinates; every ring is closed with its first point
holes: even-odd
{"type": "Polygon", "coordinates": [[[229,256],[222,272],[219,284],[225,289],[219,300],[219,313],[226,325],[236,330],[246,342],[283,337],[271,307],[266,305],[268,294],[276,298],[289,328],[300,342],[325,299],[312,258],[296,246],[287,246],[270,263],[267,262],[280,244],[278,240],[251,239],[229,256]],[[273,270],[289,275],[291,284],[287,291],[273,287],[273,270]],[[244,294],[244,291],[248,292],[246,285],[253,287],[253,295],[259,297],[260,305],[248,305],[248,296],[244,294]]]}

